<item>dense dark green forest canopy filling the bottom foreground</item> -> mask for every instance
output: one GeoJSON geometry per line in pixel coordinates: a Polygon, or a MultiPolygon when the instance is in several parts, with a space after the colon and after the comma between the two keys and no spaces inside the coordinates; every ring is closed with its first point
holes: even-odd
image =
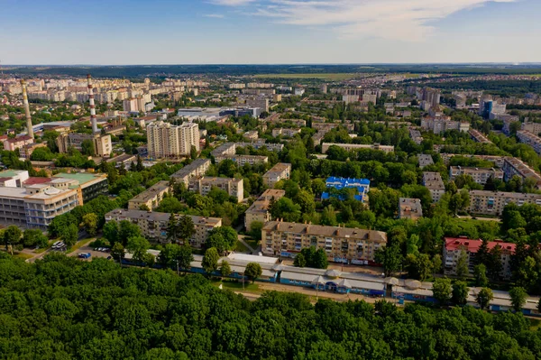
{"type": "Polygon", "coordinates": [[[535,359],[511,312],[268,292],[253,302],[200,275],[60,254],[0,259],[0,354],[17,359],[535,359]]]}

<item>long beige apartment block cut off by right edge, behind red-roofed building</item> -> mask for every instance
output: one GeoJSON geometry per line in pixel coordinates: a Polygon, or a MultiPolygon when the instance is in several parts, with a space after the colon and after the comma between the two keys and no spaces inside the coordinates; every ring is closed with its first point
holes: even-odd
{"type": "Polygon", "coordinates": [[[472,214],[500,216],[503,208],[511,202],[518,206],[524,204],[541,205],[541,194],[471,190],[468,211],[472,214]]]}

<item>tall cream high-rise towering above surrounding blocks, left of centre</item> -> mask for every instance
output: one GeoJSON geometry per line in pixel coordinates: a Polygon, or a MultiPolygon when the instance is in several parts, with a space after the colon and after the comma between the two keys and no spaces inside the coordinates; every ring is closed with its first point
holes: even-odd
{"type": "Polygon", "coordinates": [[[191,147],[199,151],[199,126],[185,123],[180,126],[156,121],[147,125],[147,146],[151,158],[189,155],[191,147]]]}

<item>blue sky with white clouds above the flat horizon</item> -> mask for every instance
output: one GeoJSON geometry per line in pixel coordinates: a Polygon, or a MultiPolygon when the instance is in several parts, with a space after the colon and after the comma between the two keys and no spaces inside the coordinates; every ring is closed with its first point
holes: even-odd
{"type": "Polygon", "coordinates": [[[2,64],[541,62],[541,0],[0,0],[2,64]]]}

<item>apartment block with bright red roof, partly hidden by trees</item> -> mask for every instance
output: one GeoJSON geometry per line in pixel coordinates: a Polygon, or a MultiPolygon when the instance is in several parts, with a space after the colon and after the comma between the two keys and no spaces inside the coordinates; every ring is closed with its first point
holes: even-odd
{"type": "MultiPolygon", "coordinates": [[[[467,258],[468,270],[472,274],[473,268],[477,265],[475,256],[481,248],[482,240],[471,240],[463,237],[445,237],[445,246],[444,246],[444,272],[445,274],[456,274],[456,268],[458,264],[458,259],[461,254],[464,252],[467,258]]],[[[489,251],[496,247],[500,246],[501,248],[501,272],[500,276],[504,279],[509,279],[511,277],[511,256],[515,254],[515,249],[517,245],[512,243],[504,243],[502,241],[490,241],[488,242],[489,251]]]]}

